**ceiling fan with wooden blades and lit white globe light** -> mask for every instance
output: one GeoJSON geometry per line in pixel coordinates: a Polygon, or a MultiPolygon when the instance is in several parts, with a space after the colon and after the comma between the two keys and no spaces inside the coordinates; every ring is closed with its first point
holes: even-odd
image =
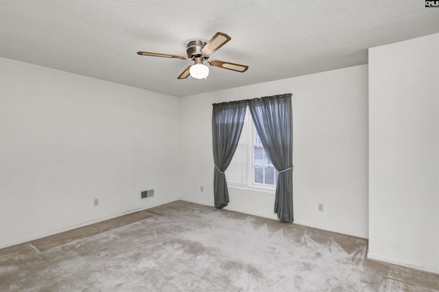
{"type": "Polygon", "coordinates": [[[209,57],[217,51],[220,47],[226,44],[229,40],[231,40],[230,36],[224,34],[222,32],[217,32],[209,42],[203,42],[202,40],[191,40],[187,44],[187,57],[185,56],[176,56],[176,55],[168,55],[165,53],[151,53],[148,51],[138,51],[137,53],[142,56],[152,56],[152,57],[163,57],[163,58],[174,58],[181,60],[193,60],[193,64],[187,66],[185,71],[183,71],[177,79],[185,79],[189,75],[196,79],[206,79],[207,75],[209,75],[209,67],[204,65],[204,62],[208,63],[211,66],[224,68],[228,70],[233,70],[237,72],[245,72],[248,69],[248,66],[235,64],[230,62],[223,62],[219,60],[211,60],[208,61],[209,57]]]}

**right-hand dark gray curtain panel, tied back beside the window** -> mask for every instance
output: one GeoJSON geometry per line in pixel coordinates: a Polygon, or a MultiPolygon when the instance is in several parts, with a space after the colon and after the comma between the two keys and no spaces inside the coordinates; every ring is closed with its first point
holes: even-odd
{"type": "Polygon", "coordinates": [[[248,107],[262,145],[279,171],[274,212],[283,222],[293,217],[292,95],[250,99],[248,107]]]}

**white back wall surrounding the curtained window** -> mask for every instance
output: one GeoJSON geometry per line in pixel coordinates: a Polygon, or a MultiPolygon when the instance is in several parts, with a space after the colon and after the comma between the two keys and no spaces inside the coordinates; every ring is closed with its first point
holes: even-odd
{"type": "MultiPolygon", "coordinates": [[[[183,97],[183,198],[213,206],[211,104],[281,93],[293,94],[294,222],[367,238],[367,65],[183,97]]],[[[228,209],[276,219],[274,192],[229,192],[228,209]]]]}

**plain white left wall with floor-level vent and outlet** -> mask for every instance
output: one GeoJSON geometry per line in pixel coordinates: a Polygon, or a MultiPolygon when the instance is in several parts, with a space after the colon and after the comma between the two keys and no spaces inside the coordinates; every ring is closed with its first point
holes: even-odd
{"type": "Polygon", "coordinates": [[[0,90],[0,247],[180,197],[177,97],[4,58],[0,90]]]}

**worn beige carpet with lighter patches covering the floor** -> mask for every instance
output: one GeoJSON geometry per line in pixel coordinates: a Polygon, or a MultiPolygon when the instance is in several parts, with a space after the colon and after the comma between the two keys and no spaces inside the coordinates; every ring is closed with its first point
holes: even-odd
{"type": "Polygon", "coordinates": [[[0,291],[439,291],[437,274],[367,260],[365,239],[181,201],[147,211],[0,250],[0,291]]]}

